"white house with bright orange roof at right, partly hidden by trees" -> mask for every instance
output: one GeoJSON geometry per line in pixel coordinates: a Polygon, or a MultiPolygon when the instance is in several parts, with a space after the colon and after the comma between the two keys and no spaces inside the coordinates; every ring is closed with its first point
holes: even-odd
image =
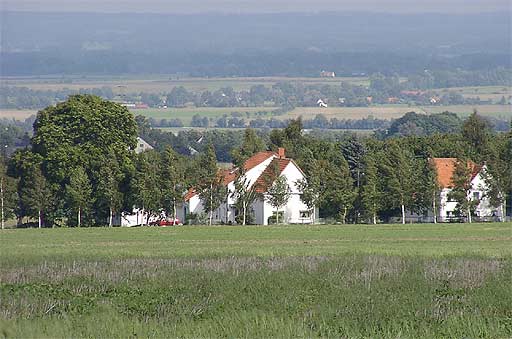
{"type": "MultiPolygon", "coordinates": [[[[440,203],[437,213],[437,220],[446,222],[453,220],[457,202],[448,198],[449,193],[453,189],[453,173],[457,165],[456,158],[433,158],[431,159],[434,168],[437,171],[437,181],[441,188],[440,203]]],[[[468,162],[468,168],[471,170],[468,199],[479,201],[476,206],[474,216],[476,219],[482,220],[502,220],[504,218],[504,206],[493,207],[487,196],[488,185],[485,181],[486,166],[479,166],[473,162],[468,162]]],[[[429,213],[432,215],[432,213],[429,213]]]]}

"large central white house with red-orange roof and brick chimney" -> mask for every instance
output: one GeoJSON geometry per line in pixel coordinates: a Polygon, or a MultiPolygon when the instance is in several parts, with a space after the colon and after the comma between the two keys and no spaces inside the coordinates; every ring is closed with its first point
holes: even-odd
{"type": "MultiPolygon", "coordinates": [[[[301,191],[297,181],[304,179],[304,173],[297,164],[285,156],[285,150],[279,148],[278,152],[264,151],[250,157],[244,164],[245,180],[248,187],[262,195],[251,206],[254,213],[254,223],[268,225],[269,218],[276,214],[276,209],[267,201],[268,188],[278,175],[284,176],[290,189],[290,197],[285,206],[279,209],[279,218],[290,224],[310,224],[318,215],[317,208],[310,211],[301,200],[301,191]],[[278,173],[275,173],[277,169],[278,173]]],[[[223,184],[227,186],[228,194],[224,202],[214,213],[213,220],[217,223],[235,223],[236,209],[232,193],[235,190],[235,180],[238,169],[233,168],[221,172],[223,184]]],[[[197,192],[191,189],[185,196],[185,206],[180,218],[189,213],[204,213],[203,204],[197,192]]]]}

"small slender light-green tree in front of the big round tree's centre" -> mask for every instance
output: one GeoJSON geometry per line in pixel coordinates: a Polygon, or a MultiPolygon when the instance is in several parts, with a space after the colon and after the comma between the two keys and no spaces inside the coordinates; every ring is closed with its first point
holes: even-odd
{"type": "Polygon", "coordinates": [[[92,205],[92,187],[89,177],[82,167],[71,171],[69,184],[66,185],[69,207],[77,213],[77,225],[82,225],[82,215],[92,205]]]}

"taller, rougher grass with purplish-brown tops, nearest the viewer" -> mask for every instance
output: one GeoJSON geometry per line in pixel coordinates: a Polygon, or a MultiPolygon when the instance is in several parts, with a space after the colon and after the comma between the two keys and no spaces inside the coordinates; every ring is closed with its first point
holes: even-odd
{"type": "Polygon", "coordinates": [[[219,257],[2,269],[7,337],[510,337],[510,258],[219,257]]]}

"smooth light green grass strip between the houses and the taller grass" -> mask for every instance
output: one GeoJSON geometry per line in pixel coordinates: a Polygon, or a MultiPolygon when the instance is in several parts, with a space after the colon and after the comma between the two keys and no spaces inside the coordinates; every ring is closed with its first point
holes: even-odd
{"type": "Polygon", "coordinates": [[[233,255],[504,257],[512,255],[512,223],[18,229],[0,232],[0,242],[3,267],[46,260],[233,255]]]}

